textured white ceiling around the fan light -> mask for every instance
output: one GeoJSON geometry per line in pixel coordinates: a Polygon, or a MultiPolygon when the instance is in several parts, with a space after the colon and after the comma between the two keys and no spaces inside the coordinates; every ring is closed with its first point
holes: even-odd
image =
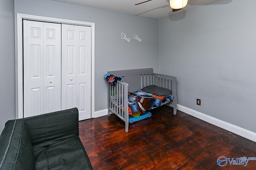
{"type": "Polygon", "coordinates": [[[198,6],[203,6],[216,2],[219,0],[188,0],[188,5],[180,11],[172,12],[169,0],[151,0],[149,2],[135,5],[136,3],[143,2],[144,0],[55,0],[66,2],[70,4],[77,4],[81,6],[88,6],[92,8],[99,8],[104,10],[111,10],[116,12],[123,12],[138,16],[146,16],[150,18],[163,18],[190,10],[198,6]]]}

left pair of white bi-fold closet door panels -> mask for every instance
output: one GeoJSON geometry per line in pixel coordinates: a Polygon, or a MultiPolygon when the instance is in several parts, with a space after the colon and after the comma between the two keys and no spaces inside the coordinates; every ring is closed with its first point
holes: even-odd
{"type": "Polygon", "coordinates": [[[23,21],[24,117],[61,109],[61,25],[23,21]]]}

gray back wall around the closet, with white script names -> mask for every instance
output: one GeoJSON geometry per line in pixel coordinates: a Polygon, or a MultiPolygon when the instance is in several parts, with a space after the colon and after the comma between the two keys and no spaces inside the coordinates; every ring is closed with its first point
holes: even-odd
{"type": "Polygon", "coordinates": [[[134,68],[158,70],[157,19],[53,0],[15,0],[14,9],[16,18],[17,13],[21,13],[95,23],[95,111],[108,108],[107,82],[104,80],[108,71],[134,68]],[[121,39],[122,32],[130,38],[136,34],[142,42],[131,39],[129,43],[121,39]]]}

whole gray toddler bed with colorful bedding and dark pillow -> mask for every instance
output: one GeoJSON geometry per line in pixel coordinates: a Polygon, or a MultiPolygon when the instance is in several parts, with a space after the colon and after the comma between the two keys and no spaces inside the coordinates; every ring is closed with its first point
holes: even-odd
{"type": "Polygon", "coordinates": [[[108,74],[116,78],[114,83],[113,78],[108,80],[108,115],[112,112],[122,119],[126,132],[129,122],[150,117],[149,110],[164,104],[173,107],[176,115],[176,77],[153,73],[153,68],[109,71],[108,74]]]}

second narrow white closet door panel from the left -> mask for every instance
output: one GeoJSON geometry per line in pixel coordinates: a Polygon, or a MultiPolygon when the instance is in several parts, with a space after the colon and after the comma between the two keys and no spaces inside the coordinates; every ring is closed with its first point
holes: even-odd
{"type": "Polygon", "coordinates": [[[61,109],[61,25],[44,23],[44,113],[61,109]]]}

